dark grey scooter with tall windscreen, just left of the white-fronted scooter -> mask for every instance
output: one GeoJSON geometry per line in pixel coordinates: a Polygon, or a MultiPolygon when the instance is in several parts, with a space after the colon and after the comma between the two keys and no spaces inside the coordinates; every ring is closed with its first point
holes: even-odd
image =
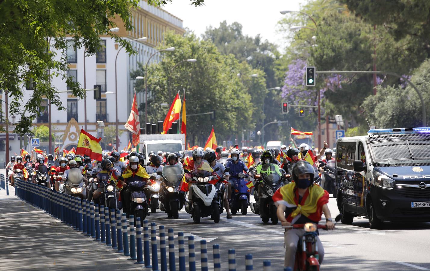
{"type": "Polygon", "coordinates": [[[160,210],[167,213],[169,218],[178,219],[179,210],[184,207],[185,193],[181,191],[182,171],[178,166],[166,165],[162,171],[157,171],[162,176],[160,186],[160,210]]]}

